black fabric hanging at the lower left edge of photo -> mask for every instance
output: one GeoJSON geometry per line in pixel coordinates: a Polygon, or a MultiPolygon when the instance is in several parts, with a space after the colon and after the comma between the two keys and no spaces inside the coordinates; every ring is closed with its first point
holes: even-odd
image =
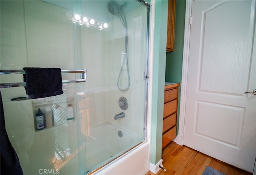
{"type": "Polygon", "coordinates": [[[22,168],[20,166],[20,161],[16,151],[12,147],[12,144],[8,138],[5,121],[4,121],[4,108],[2,102],[2,95],[0,92],[1,98],[1,174],[8,175],[23,175],[22,168]]]}

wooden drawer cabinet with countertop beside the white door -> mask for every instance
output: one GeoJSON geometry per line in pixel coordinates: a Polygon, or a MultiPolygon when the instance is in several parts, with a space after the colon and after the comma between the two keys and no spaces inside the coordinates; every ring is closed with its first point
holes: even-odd
{"type": "Polygon", "coordinates": [[[162,148],[176,137],[178,87],[180,83],[166,83],[164,87],[164,121],[162,148]]]}

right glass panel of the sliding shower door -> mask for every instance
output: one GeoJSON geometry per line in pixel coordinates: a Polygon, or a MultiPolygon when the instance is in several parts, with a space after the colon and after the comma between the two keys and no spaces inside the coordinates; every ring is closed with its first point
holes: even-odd
{"type": "Polygon", "coordinates": [[[86,173],[145,141],[148,16],[136,0],[74,1],[75,54],[88,71],[78,121],[86,173]]]}

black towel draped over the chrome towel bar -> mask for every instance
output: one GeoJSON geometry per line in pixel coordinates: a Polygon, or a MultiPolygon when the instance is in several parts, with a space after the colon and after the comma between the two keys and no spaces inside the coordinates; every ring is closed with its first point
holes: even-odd
{"type": "Polygon", "coordinates": [[[60,68],[24,67],[23,70],[29,99],[63,94],[60,68]]]}

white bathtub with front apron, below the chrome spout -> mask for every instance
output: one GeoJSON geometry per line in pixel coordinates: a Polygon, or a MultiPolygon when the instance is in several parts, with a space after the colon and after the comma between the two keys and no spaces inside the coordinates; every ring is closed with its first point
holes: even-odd
{"type": "Polygon", "coordinates": [[[85,144],[87,173],[145,174],[150,164],[149,143],[139,140],[136,134],[111,124],[91,129],[85,144]]]}

